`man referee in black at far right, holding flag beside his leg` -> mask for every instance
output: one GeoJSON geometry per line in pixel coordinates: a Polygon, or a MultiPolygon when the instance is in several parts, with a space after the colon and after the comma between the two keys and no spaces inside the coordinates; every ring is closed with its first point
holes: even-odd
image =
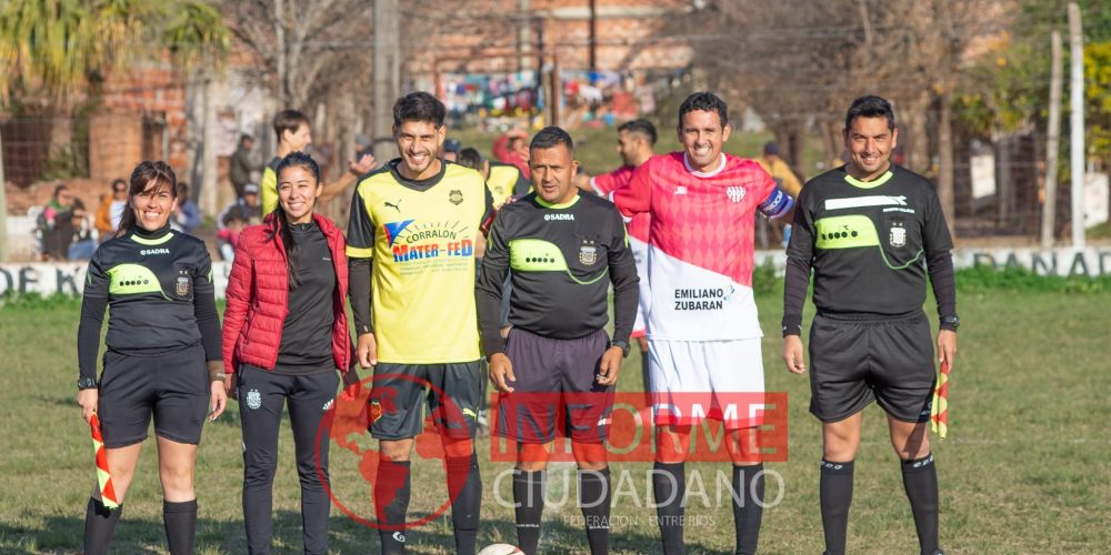
{"type": "Polygon", "coordinates": [[[822,421],[821,512],[825,553],[844,553],[853,458],[863,408],[879,402],[902,461],[923,554],[938,548],[938,473],[927,423],[934,383],[925,275],[938,301],[938,360],[957,354],[953,242],[933,185],[893,165],[891,104],[853,101],[844,122],[847,165],[802,189],[788,246],[783,360],[805,372],[802,305],[810,272],[818,314],[810,329],[810,412],[822,421]]]}

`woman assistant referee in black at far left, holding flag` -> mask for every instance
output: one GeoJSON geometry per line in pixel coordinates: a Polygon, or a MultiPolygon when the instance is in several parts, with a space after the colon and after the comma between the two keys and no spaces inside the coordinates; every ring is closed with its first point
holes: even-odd
{"type": "Polygon", "coordinates": [[[104,506],[94,488],[84,521],[84,553],[108,553],[122,501],[154,417],[162,518],[171,554],[193,552],[193,471],[204,415],[223,412],[220,316],[204,242],[170,230],[177,178],[166,162],[131,173],[116,236],[89,262],[78,327],[78,404],[101,422],[108,467],[121,504],[104,506]],[[103,373],[97,355],[109,307],[103,373]],[[211,396],[211,400],[210,400],[211,396]],[[211,401],[211,404],[210,404],[211,401]]]}

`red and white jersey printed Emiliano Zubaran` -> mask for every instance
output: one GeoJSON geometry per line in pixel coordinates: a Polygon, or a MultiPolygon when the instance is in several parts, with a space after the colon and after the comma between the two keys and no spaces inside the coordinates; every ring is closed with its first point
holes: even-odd
{"type": "Polygon", "coordinates": [[[625,218],[650,216],[651,339],[763,335],[752,296],[753,230],[757,206],[775,194],[775,182],[752,160],[721,158],[703,173],[683,152],[653,157],[611,194],[625,218]]]}

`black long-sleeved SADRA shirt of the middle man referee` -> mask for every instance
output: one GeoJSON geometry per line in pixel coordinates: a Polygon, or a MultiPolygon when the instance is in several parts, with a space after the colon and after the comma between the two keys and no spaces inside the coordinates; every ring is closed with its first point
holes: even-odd
{"type": "Polygon", "coordinates": [[[609,201],[580,192],[571,202],[553,205],[533,192],[501,209],[476,293],[487,356],[504,351],[499,327],[507,273],[513,326],[554,339],[593,333],[609,320],[612,283],[613,339],[629,341],[639,279],[621,214],[609,201]]]}

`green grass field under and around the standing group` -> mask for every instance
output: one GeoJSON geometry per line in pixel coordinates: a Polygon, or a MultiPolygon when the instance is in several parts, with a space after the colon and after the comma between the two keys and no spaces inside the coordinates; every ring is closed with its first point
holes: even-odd
{"type": "MultiPolygon", "coordinates": [[[[1105,289],[1104,289],[1105,291],[1105,289]]],[[[767,331],[778,330],[781,292],[759,300],[767,331]]],[[[950,436],[934,442],[942,487],[942,545],[948,553],[1102,553],[1111,546],[1111,294],[1044,291],[993,291],[965,287],[960,297],[964,322],[951,385],[950,436]]],[[[89,433],[76,405],[74,302],[20,302],[0,305],[0,389],[4,438],[0,456],[0,552],[77,553],[81,547],[84,505],[93,485],[89,433]]],[[[811,314],[812,311],[808,311],[811,314]]],[[[783,477],[781,502],[765,511],[764,553],[819,553],[819,425],[807,412],[805,377],[789,375],[779,360],[781,340],[764,339],[769,391],[789,395],[790,457],[769,464],[783,477]]],[[[634,350],[635,351],[635,350],[634,350]]],[[[621,391],[641,386],[639,360],[630,356],[621,391]]],[[[240,484],[242,462],[238,408],[204,432],[198,463],[199,553],[244,553],[240,484]]],[[[369,440],[361,440],[369,446],[369,440]]],[[[147,442],[136,483],[117,531],[118,553],[164,553],[161,495],[153,445],[147,442]]],[[[487,440],[479,443],[488,451],[487,440]]],[[[274,487],[278,552],[300,551],[299,490],[292,442],[283,430],[281,465],[274,487]]],[[[332,450],[332,483],[362,515],[369,488],[353,454],[332,450]],[[361,501],[360,501],[361,500],[361,501]]],[[[484,456],[483,456],[484,458],[484,456]]],[[[858,456],[849,547],[854,553],[915,553],[910,511],[899,467],[873,405],[865,415],[864,443],[858,456]]],[[[424,514],[444,500],[442,471],[436,461],[417,464],[411,515],[424,514]]],[[[499,505],[493,484],[509,464],[483,464],[484,490],[480,543],[513,542],[512,509],[499,505]]],[[[615,553],[658,553],[658,532],[644,506],[650,496],[648,463],[614,464],[631,471],[640,503],[623,495],[613,507],[615,553]]],[[[711,502],[713,475],[722,465],[694,464],[711,502]]],[[[556,465],[552,475],[570,470],[556,465]]],[[[573,471],[569,474],[573,484],[573,471]]],[[[617,476],[617,474],[615,474],[617,476]]],[[[553,480],[549,498],[563,486],[553,480]]],[[[627,485],[627,487],[629,487],[627,485]]],[[[628,493],[628,491],[625,492],[628,493]]],[[[768,497],[779,495],[769,482],[768,497]]],[[[510,481],[500,495],[511,498],[510,481]]],[[[571,494],[573,500],[573,493],[571,494]]],[[[688,508],[701,517],[688,526],[690,553],[732,549],[728,493],[720,508],[701,501],[688,508]]],[[[712,504],[712,503],[711,503],[712,504]]],[[[333,509],[331,547],[336,553],[377,553],[377,532],[333,509]]],[[[573,503],[546,512],[544,553],[583,553],[585,542],[573,503]]],[[[451,526],[439,518],[410,534],[412,553],[452,553],[451,526]]]]}

